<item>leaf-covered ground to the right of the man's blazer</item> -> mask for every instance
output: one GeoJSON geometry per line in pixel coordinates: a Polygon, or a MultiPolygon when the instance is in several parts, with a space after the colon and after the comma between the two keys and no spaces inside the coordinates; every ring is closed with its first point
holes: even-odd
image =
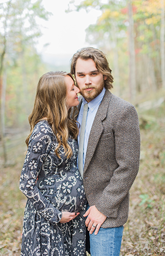
{"type": "Polygon", "coordinates": [[[141,160],[121,255],[165,255],[165,105],[139,113],[141,160]]]}

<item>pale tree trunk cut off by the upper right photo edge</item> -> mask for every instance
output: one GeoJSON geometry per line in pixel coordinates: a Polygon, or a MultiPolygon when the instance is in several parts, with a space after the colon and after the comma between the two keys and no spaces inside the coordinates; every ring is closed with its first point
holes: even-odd
{"type": "Polygon", "coordinates": [[[161,81],[165,89],[165,56],[164,56],[164,0],[161,1],[161,26],[160,26],[160,56],[161,56],[161,81]]]}

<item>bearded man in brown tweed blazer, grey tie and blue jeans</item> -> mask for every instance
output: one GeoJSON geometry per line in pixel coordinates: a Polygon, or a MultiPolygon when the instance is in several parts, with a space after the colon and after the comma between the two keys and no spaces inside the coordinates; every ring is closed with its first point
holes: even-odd
{"type": "Polygon", "coordinates": [[[137,113],[132,104],[109,91],[113,77],[102,51],[80,49],[72,58],[71,73],[83,96],[77,119],[81,126],[83,108],[88,103],[82,177],[89,204],[84,216],[90,253],[119,256],[123,225],[128,219],[129,190],[139,168],[137,113]]]}

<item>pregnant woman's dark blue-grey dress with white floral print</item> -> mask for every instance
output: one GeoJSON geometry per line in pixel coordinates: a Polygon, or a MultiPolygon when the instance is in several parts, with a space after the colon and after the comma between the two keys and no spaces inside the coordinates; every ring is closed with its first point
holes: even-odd
{"type": "Polygon", "coordinates": [[[69,138],[73,156],[66,158],[63,146],[55,154],[57,139],[48,121],[33,130],[23,164],[19,188],[28,198],[23,218],[21,256],[86,255],[84,187],[76,167],[78,144],[69,138]],[[80,212],[60,223],[61,211],[80,212]]]}

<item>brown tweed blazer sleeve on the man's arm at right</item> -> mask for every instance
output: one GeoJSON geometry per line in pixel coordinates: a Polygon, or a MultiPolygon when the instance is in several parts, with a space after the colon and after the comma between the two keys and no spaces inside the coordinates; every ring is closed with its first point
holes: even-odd
{"type": "Polygon", "coordinates": [[[95,204],[99,211],[111,218],[117,217],[117,211],[128,197],[139,169],[139,123],[137,112],[131,104],[120,113],[114,128],[114,141],[115,160],[119,166],[95,204]]]}

